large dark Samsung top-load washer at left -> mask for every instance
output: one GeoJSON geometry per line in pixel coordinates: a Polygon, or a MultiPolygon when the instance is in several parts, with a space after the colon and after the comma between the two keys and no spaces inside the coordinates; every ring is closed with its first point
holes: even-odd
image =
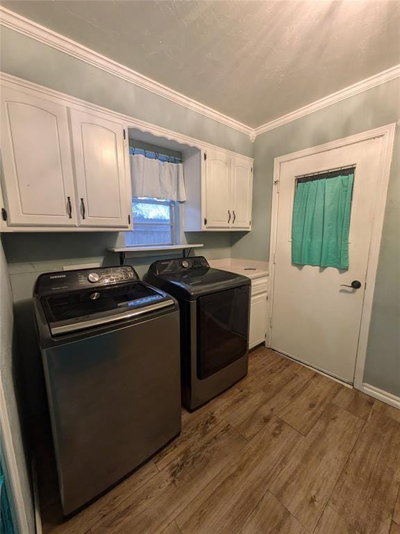
{"type": "Polygon", "coordinates": [[[33,302],[67,515],[180,432],[178,305],[131,266],[40,275],[33,302]]]}

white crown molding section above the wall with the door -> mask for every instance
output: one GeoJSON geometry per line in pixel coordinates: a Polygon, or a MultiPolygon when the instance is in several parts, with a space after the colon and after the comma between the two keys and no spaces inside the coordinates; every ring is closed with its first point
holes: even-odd
{"type": "Polygon", "coordinates": [[[327,97],[316,100],[311,104],[307,104],[306,106],[303,106],[295,111],[291,111],[282,117],[258,126],[253,130],[254,138],[260,136],[261,133],[265,133],[266,131],[283,126],[283,124],[288,124],[288,122],[292,122],[293,120],[310,115],[310,113],[319,111],[319,109],[326,108],[327,106],[336,104],[341,100],[353,97],[354,95],[358,95],[360,92],[367,91],[373,87],[380,86],[382,83],[386,83],[387,81],[394,80],[395,78],[399,77],[400,65],[394,65],[394,67],[390,67],[390,69],[383,70],[383,72],[378,72],[378,74],[374,74],[374,76],[370,76],[369,78],[358,81],[357,83],[353,83],[352,86],[348,86],[337,92],[333,92],[327,97]]]}

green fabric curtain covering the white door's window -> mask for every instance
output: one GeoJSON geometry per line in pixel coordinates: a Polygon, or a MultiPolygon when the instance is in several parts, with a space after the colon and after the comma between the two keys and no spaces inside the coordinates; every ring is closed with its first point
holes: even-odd
{"type": "Polygon", "coordinates": [[[354,173],[297,183],[292,220],[292,264],[349,268],[354,173]]]}

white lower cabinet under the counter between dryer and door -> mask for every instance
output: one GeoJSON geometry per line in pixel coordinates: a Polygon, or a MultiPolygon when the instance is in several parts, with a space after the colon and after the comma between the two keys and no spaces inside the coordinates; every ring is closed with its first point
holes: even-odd
{"type": "Polygon", "coordinates": [[[265,342],[268,312],[268,277],[251,280],[249,348],[265,342]]]}

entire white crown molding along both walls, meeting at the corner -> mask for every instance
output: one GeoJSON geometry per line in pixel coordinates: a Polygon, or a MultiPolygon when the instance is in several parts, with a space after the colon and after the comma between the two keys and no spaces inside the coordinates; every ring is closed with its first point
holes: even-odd
{"type": "Polygon", "coordinates": [[[22,15],[18,15],[11,10],[3,8],[2,6],[0,6],[0,24],[14,31],[18,31],[19,33],[23,33],[24,35],[27,35],[28,37],[38,40],[44,44],[47,44],[49,47],[58,49],[65,54],[69,54],[69,56],[84,61],[89,65],[93,65],[94,67],[104,70],[109,74],[118,76],[129,83],[133,83],[135,86],[147,89],[160,97],[164,97],[171,102],[174,102],[175,104],[179,104],[187,109],[190,109],[191,111],[200,113],[201,115],[224,124],[225,126],[231,127],[236,131],[245,133],[249,136],[251,142],[253,142],[257,136],[260,136],[266,131],[281,127],[283,124],[288,124],[288,122],[292,122],[306,115],[310,115],[310,113],[314,113],[315,111],[319,111],[327,106],[336,104],[344,99],[358,95],[360,92],[367,91],[381,85],[382,83],[386,83],[387,81],[400,77],[400,65],[394,65],[394,67],[391,67],[390,69],[379,72],[378,74],[374,74],[374,76],[370,76],[369,78],[358,81],[357,83],[353,83],[351,86],[348,86],[337,92],[333,92],[331,95],[316,100],[315,102],[307,104],[306,106],[303,106],[297,110],[291,111],[290,113],[287,113],[286,115],[283,115],[277,119],[266,122],[257,128],[251,128],[246,124],[242,124],[242,122],[239,122],[238,120],[228,117],[223,113],[219,113],[219,111],[215,111],[214,109],[209,108],[208,106],[205,106],[196,100],[182,95],[180,92],[163,86],[163,84],[158,83],[158,81],[152,80],[147,76],[136,72],[135,70],[129,69],[128,67],[125,67],[124,65],[121,65],[110,58],[106,58],[106,56],[102,56],[96,51],[84,47],[83,44],[79,44],[78,42],[65,37],[65,35],[60,35],[60,33],[56,33],[55,31],[45,28],[44,26],[26,19],[25,17],[22,17],[22,15]]]}

